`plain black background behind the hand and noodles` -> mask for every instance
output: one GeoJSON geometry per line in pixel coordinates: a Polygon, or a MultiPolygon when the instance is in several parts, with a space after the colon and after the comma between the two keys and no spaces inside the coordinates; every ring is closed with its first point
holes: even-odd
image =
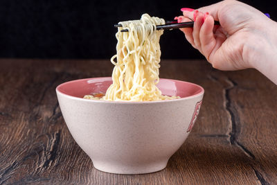
{"type": "MultiPolygon", "coordinates": [[[[118,21],[151,16],[172,20],[180,8],[218,1],[0,0],[1,58],[111,58],[118,21]]],[[[243,1],[277,20],[273,1],[243,1]]],[[[179,30],[161,37],[162,58],[203,58],[179,30]]]]}

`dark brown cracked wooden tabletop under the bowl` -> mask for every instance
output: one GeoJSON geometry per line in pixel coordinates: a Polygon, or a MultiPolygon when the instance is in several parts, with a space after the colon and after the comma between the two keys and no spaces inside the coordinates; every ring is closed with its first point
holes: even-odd
{"type": "Polygon", "coordinates": [[[277,86],[254,69],[162,60],[161,78],[202,85],[197,123],[166,169],[95,168],[64,123],[55,87],[111,76],[109,60],[0,60],[0,184],[277,184],[277,86]]]}

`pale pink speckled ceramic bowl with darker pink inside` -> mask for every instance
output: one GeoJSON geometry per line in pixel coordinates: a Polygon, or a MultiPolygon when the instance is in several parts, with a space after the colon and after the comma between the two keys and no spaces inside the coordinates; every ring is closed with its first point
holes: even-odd
{"type": "Polygon", "coordinates": [[[93,166],[107,173],[141,174],[166,168],[186,140],[204,95],[199,85],[160,79],[162,94],[175,100],[126,102],[87,100],[105,93],[110,77],[73,80],[56,89],[69,131],[93,166]]]}

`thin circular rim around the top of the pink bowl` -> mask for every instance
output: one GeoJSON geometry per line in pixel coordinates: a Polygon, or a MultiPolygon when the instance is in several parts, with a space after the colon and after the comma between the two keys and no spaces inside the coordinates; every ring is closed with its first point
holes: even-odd
{"type": "Polygon", "coordinates": [[[64,94],[59,90],[59,88],[62,85],[66,85],[67,83],[78,82],[78,81],[83,81],[83,80],[93,80],[93,79],[97,79],[97,78],[107,78],[107,79],[111,80],[111,77],[82,78],[82,79],[78,79],[78,80],[71,80],[71,81],[63,82],[62,84],[58,85],[56,87],[56,92],[57,92],[57,94],[60,94],[62,96],[65,96],[66,98],[70,98],[70,99],[73,99],[73,100],[81,100],[81,101],[91,102],[91,103],[116,103],[116,104],[126,104],[126,103],[127,104],[145,104],[145,103],[148,104],[148,103],[166,103],[166,102],[169,103],[169,102],[180,101],[180,100],[188,100],[188,99],[195,98],[197,96],[201,96],[202,94],[204,94],[204,88],[201,87],[200,85],[197,85],[197,84],[192,83],[192,82],[186,82],[186,81],[182,81],[182,80],[174,80],[174,79],[168,79],[168,78],[160,78],[160,80],[170,80],[170,81],[173,81],[173,82],[185,82],[187,84],[199,87],[201,89],[201,91],[199,93],[191,95],[191,96],[186,96],[184,98],[178,98],[178,99],[173,99],[173,100],[155,100],[155,101],[135,102],[135,101],[89,100],[89,99],[84,99],[84,98],[79,98],[79,97],[76,97],[76,96],[71,96],[71,95],[68,95],[68,94],[64,94]]]}

